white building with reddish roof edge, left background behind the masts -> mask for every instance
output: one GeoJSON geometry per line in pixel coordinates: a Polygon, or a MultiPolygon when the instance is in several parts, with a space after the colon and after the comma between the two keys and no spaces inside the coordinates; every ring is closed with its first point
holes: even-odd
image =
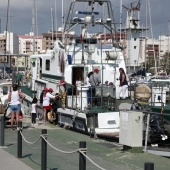
{"type": "Polygon", "coordinates": [[[19,53],[20,54],[39,54],[42,51],[42,36],[34,36],[30,32],[19,37],[19,53]],[[35,45],[34,45],[35,44],[35,45]]]}

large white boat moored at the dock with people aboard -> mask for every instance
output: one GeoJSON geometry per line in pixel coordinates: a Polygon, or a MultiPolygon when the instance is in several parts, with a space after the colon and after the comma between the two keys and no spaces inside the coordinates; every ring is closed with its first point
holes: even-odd
{"type": "Polygon", "coordinates": [[[30,88],[21,87],[22,92],[28,94],[29,91],[30,94],[26,96],[23,103],[25,109],[29,110],[34,95],[40,98],[44,87],[53,88],[54,93],[60,92],[58,85],[60,80],[64,80],[72,85],[72,92],[67,93],[66,106],[58,109],[58,124],[86,134],[118,136],[119,110],[116,106],[116,98],[119,96],[119,82],[117,78],[119,78],[119,68],[126,71],[126,67],[122,47],[114,39],[116,34],[114,23],[112,4],[109,0],[72,1],[63,27],[65,41],[57,40],[53,50],[30,56],[30,88]],[[75,9],[80,3],[87,6],[88,10],[75,9]],[[99,19],[99,12],[95,10],[99,10],[98,7],[102,9],[103,5],[106,5],[108,10],[108,18],[99,19]],[[75,14],[81,17],[73,17],[75,14]],[[81,25],[80,35],[75,36],[71,44],[67,44],[69,32],[79,25],[81,25]],[[105,27],[110,33],[110,44],[100,43],[95,34],[89,33],[89,27],[94,29],[98,26],[105,27]],[[85,79],[95,68],[99,70],[102,82],[96,87],[95,97],[98,102],[94,106],[88,106],[89,87],[85,84],[85,79]],[[81,78],[81,86],[75,85],[78,78],[81,78]],[[106,82],[108,84],[111,82],[113,85],[108,85],[106,82]]]}

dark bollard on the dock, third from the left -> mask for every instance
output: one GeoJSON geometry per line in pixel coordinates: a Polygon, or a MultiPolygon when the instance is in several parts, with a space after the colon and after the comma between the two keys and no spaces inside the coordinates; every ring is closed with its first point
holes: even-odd
{"type": "MultiPolygon", "coordinates": [[[[42,135],[47,134],[47,129],[42,129],[42,135]]],[[[47,139],[47,137],[45,137],[47,139]]],[[[47,169],[47,143],[42,138],[41,140],[41,170],[47,169]]]]}

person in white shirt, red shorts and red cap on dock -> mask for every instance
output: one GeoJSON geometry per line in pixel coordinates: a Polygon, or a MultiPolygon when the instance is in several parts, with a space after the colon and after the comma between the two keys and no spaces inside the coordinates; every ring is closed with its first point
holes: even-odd
{"type": "Polygon", "coordinates": [[[50,115],[52,115],[51,111],[51,104],[50,104],[50,99],[54,99],[55,96],[53,96],[51,93],[53,92],[53,89],[47,89],[44,88],[44,95],[43,95],[43,110],[44,110],[44,122],[47,119],[47,112],[50,112],[50,115]]]}

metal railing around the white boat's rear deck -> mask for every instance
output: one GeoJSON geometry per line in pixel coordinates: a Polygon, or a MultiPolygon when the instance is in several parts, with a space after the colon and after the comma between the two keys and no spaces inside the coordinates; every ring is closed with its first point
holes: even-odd
{"type": "MultiPolygon", "coordinates": [[[[82,112],[107,112],[115,110],[115,86],[78,86],[75,93],[67,95],[66,107],[79,109],[82,112]]],[[[68,92],[67,92],[68,93],[68,92]]]]}

